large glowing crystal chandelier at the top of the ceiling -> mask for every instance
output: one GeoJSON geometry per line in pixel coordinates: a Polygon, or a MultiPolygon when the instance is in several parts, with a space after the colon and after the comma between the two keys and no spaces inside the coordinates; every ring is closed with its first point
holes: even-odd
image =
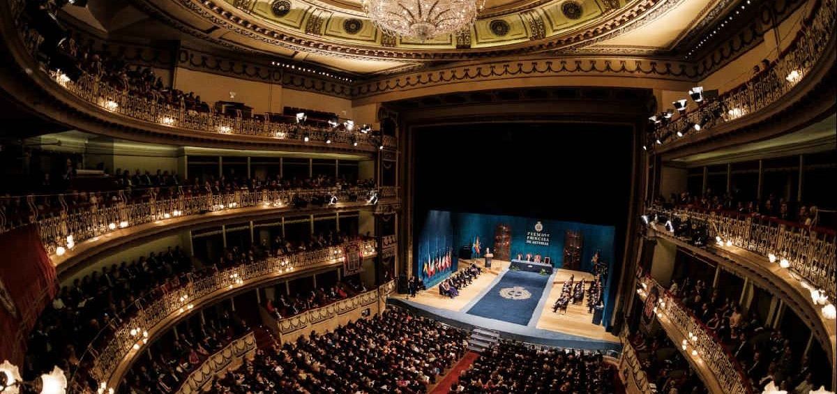
{"type": "Polygon", "coordinates": [[[470,28],[485,0],[363,0],[372,23],[396,37],[426,41],[470,28]]]}

